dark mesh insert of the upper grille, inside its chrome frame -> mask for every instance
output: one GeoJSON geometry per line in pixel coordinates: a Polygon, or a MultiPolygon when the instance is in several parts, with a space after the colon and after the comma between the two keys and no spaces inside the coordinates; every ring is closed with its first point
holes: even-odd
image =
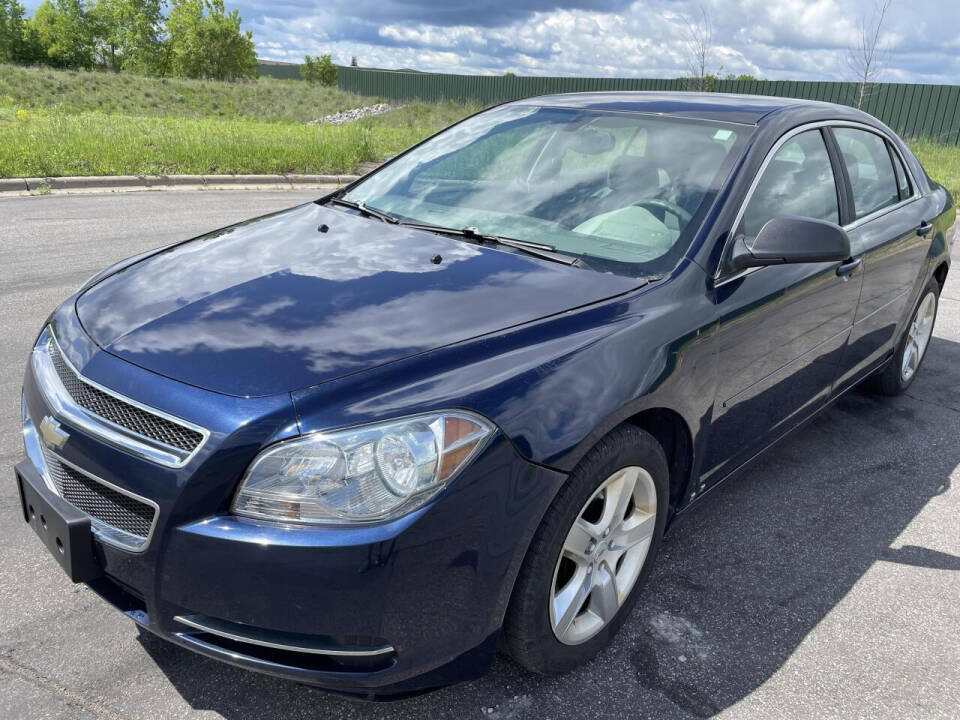
{"type": "Polygon", "coordinates": [[[52,339],[47,345],[47,352],[63,387],[73,401],[85,410],[138,435],[187,453],[196,450],[203,442],[203,435],[196,430],[126,403],[85,382],[67,364],[52,339]]]}

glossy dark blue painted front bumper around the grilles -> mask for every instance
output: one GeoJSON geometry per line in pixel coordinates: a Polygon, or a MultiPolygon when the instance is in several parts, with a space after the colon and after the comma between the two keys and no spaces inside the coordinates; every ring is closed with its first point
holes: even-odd
{"type": "MultiPolygon", "coordinates": [[[[96,378],[104,384],[114,366],[146,372],[116,358],[99,362],[90,367],[104,369],[96,378]]],[[[134,387],[131,380],[124,389],[134,387]]],[[[24,396],[34,423],[53,412],[29,372],[24,396]]],[[[88,583],[95,592],[195,652],[339,693],[403,695],[488,669],[514,578],[564,475],[527,462],[499,435],[433,502],[399,520],[349,528],[257,522],[227,507],[259,446],[240,443],[207,412],[211,441],[180,470],[133,458],[60,419],[68,461],[159,508],[142,552],[94,535],[103,572],[88,583]]],[[[29,461],[17,472],[43,484],[29,461]]]]}

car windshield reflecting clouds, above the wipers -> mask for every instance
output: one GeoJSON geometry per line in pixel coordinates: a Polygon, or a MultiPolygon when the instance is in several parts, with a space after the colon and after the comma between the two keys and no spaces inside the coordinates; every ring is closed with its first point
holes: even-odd
{"type": "Polygon", "coordinates": [[[344,199],[398,218],[553,246],[591,268],[670,270],[747,128],[509,105],[427,140],[344,199]]]}

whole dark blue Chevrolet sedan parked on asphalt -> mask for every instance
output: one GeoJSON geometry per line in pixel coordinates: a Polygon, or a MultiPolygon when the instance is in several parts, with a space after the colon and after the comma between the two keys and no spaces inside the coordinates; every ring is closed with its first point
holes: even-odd
{"type": "Polygon", "coordinates": [[[916,379],[956,211],[845,107],[571,94],[123,261],[23,384],[29,522],[141,628],[361,697],[540,673],[667,526],[865,383],[916,379]]]}

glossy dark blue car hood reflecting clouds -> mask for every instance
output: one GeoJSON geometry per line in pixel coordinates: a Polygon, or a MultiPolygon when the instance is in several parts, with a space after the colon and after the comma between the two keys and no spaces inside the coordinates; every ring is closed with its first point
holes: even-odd
{"type": "Polygon", "coordinates": [[[641,283],[311,203],[160,251],[97,282],[76,307],[107,352],[208,390],[257,396],[641,283]]]}

